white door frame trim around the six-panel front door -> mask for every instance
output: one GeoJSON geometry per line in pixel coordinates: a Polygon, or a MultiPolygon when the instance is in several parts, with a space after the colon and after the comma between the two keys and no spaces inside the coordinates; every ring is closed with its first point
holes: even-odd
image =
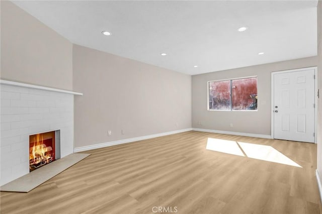
{"type": "Polygon", "coordinates": [[[317,142],[317,66],[312,67],[304,67],[304,68],[297,68],[297,69],[290,69],[290,70],[282,70],[282,71],[275,71],[271,73],[271,138],[274,139],[274,74],[280,73],[290,73],[296,71],[303,71],[303,70],[314,70],[314,143],[317,142]]]}

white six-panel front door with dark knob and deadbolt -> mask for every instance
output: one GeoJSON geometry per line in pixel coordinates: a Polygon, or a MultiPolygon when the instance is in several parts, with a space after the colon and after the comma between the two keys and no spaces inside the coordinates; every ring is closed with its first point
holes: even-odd
{"type": "Polygon", "coordinates": [[[314,69],[273,74],[274,138],[314,143],[314,69]]]}

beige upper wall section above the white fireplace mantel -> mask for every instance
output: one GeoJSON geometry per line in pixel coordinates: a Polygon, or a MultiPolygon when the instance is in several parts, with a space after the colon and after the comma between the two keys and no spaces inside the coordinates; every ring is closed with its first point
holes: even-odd
{"type": "Polygon", "coordinates": [[[1,78],[72,89],[72,44],[9,1],[1,4],[1,78]]]}

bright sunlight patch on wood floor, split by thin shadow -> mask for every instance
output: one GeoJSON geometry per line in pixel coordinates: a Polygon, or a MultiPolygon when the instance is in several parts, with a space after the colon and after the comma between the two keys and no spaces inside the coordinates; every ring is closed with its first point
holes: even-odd
{"type": "MultiPolygon", "coordinates": [[[[208,138],[207,150],[301,167],[271,146],[208,138]]],[[[301,167],[302,168],[302,167],[301,167]]]]}

